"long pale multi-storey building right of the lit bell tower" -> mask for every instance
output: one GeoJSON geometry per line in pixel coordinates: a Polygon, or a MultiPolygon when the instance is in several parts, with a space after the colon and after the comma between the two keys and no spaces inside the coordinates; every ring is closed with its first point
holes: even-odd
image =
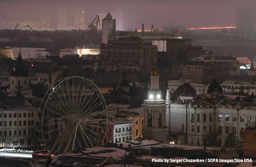
{"type": "MultiPolygon", "coordinates": [[[[247,104],[248,107],[244,100],[231,103],[228,99],[213,99],[216,105],[206,99],[172,103],[170,111],[166,110],[166,124],[169,125],[170,120],[170,132],[185,135],[184,143],[180,144],[204,145],[204,138],[209,144],[209,137],[216,137],[217,145],[223,147],[229,134],[233,134],[237,144],[243,140],[243,129],[255,127],[256,122],[256,104],[247,104]]],[[[179,139],[183,138],[177,137],[170,142],[178,143],[179,139]]]]}

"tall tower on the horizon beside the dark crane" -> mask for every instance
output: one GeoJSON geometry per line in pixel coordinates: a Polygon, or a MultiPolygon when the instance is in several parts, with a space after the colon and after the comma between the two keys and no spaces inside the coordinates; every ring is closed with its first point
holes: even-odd
{"type": "Polygon", "coordinates": [[[106,17],[102,19],[102,43],[107,43],[107,39],[115,35],[115,28],[115,19],[112,19],[108,11],[106,17]]]}

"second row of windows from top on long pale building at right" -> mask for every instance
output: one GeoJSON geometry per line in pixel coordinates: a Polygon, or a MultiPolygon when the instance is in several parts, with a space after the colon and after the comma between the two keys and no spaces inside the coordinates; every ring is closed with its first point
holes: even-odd
{"type": "MultiPolygon", "coordinates": [[[[206,126],[203,127],[204,134],[206,134],[206,126]]],[[[200,133],[200,126],[196,127],[196,132],[200,133]]],[[[191,133],[194,133],[194,126],[191,126],[191,133]]],[[[209,126],[209,133],[212,133],[212,126],[209,126]]],[[[225,134],[229,134],[229,127],[225,127],[225,134]]],[[[232,127],[232,134],[236,134],[236,127],[232,127]]],[[[218,127],[218,135],[222,135],[222,127],[218,127]]],[[[243,128],[240,128],[240,136],[243,136],[243,128]]]]}

